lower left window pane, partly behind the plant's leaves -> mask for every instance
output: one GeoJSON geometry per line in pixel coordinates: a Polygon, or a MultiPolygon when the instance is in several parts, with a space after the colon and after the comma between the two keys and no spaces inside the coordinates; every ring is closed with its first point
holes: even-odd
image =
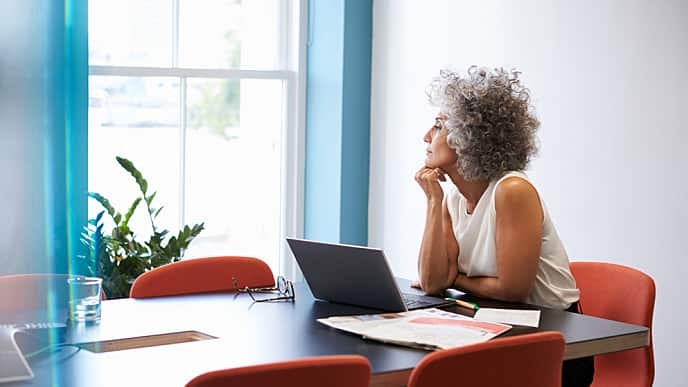
{"type": "MultiPolygon", "coordinates": [[[[134,179],[115,160],[134,163],[158,191],[153,207],[164,206],[156,227],[176,234],[179,227],[179,79],[162,77],[89,77],[88,189],[110,200],[124,214],[141,195],[134,179]]],[[[89,217],[102,211],[89,200],[89,217]]],[[[150,219],[140,205],[130,226],[147,240],[150,219]]],[[[111,224],[106,227],[110,230],[111,224]]]]}

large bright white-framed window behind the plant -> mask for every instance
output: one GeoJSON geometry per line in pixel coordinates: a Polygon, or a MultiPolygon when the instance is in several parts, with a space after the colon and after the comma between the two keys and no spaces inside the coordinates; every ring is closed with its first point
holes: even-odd
{"type": "MultiPolygon", "coordinates": [[[[283,237],[300,227],[303,12],[296,0],[90,0],[89,191],[128,208],[125,157],[158,191],[160,227],[205,222],[187,258],[256,256],[283,272],[283,237]]],[[[146,216],[131,222],[143,238],[146,216]]]]}

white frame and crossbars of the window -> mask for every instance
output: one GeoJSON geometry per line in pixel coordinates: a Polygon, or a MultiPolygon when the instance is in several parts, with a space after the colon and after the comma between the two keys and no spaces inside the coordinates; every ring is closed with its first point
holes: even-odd
{"type": "Polygon", "coordinates": [[[173,1],[172,67],[142,66],[100,66],[89,65],[89,76],[127,77],[176,77],[179,87],[179,224],[185,224],[185,180],[186,180],[186,83],[189,78],[208,79],[267,79],[284,81],[282,112],[282,162],[280,188],[282,192],[280,213],[280,240],[278,270],[287,278],[300,280],[300,272],[288,252],[285,236],[303,236],[304,208],[304,155],[306,122],[306,44],[307,44],[307,0],[286,0],[282,4],[280,17],[285,23],[280,36],[287,37],[280,45],[282,68],[285,70],[246,69],[199,69],[178,66],[179,47],[179,0],[173,1]]]}

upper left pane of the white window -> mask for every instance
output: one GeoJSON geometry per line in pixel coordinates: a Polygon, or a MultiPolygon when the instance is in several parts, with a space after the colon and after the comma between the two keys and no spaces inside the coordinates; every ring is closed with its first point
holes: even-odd
{"type": "Polygon", "coordinates": [[[90,0],[89,64],[172,66],[172,4],[170,0],[90,0]]]}

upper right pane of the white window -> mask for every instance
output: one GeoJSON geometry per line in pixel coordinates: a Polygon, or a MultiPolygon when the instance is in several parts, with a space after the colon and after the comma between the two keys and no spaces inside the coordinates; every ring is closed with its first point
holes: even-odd
{"type": "Polygon", "coordinates": [[[279,69],[285,2],[179,2],[179,63],[192,68],[279,69]]]}

